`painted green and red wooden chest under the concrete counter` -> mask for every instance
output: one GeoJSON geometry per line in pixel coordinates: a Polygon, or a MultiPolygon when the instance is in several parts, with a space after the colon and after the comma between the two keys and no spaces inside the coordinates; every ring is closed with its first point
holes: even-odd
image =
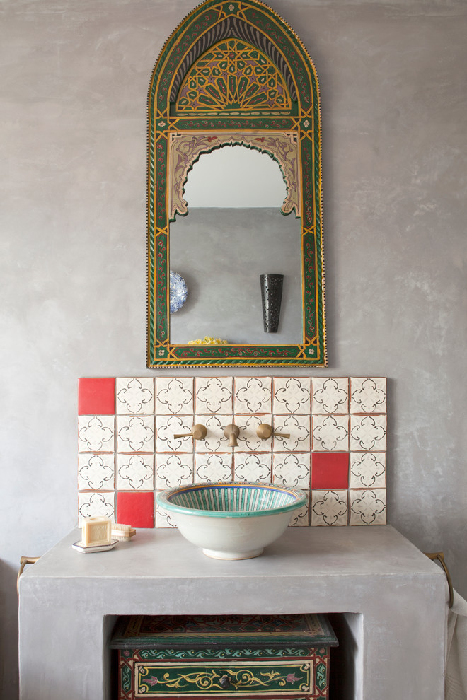
{"type": "Polygon", "coordinates": [[[111,648],[117,698],[328,698],[330,647],[320,614],[122,617],[111,648]]]}

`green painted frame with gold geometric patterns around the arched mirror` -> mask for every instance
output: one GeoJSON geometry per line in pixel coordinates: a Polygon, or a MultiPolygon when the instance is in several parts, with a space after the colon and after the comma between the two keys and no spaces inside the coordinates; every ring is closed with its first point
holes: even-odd
{"type": "Polygon", "coordinates": [[[294,31],[258,0],[207,0],[159,54],[148,99],[147,366],[325,366],[321,115],[316,70],[294,31]],[[303,342],[170,342],[170,222],[202,153],[244,145],[279,163],[282,213],[301,219],[303,342]]]}

